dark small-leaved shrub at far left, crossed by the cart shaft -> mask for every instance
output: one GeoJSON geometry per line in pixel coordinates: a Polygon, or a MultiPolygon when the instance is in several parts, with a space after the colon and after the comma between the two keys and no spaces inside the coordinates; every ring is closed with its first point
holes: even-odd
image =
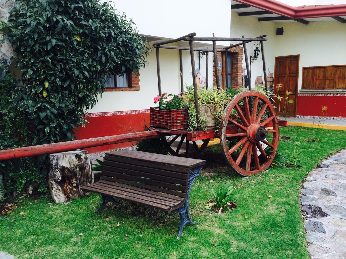
{"type": "MultiPolygon", "coordinates": [[[[33,133],[29,131],[29,121],[13,103],[17,80],[0,67],[0,150],[31,145],[33,133]]],[[[46,181],[38,171],[38,161],[31,157],[0,161],[0,173],[6,198],[11,192],[20,192],[29,184],[39,183],[39,190],[46,189],[46,181]]]]}

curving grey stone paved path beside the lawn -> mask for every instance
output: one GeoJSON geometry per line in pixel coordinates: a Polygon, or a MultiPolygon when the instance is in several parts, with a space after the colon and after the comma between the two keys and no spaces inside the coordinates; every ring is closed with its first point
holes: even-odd
{"type": "Polygon", "coordinates": [[[301,191],[308,251],[314,258],[346,258],[346,150],[311,171],[301,191]]]}

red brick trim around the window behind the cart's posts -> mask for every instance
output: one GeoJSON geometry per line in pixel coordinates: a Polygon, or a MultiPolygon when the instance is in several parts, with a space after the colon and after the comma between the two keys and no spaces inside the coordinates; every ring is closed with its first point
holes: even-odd
{"type": "MultiPolygon", "coordinates": [[[[229,49],[232,53],[232,88],[238,89],[242,86],[243,77],[243,47],[236,46],[229,49]]],[[[221,52],[217,52],[218,62],[221,62],[221,52]]],[[[213,62],[214,63],[214,62],[213,62]]],[[[216,85],[215,65],[213,64],[213,85],[216,85]]]]}

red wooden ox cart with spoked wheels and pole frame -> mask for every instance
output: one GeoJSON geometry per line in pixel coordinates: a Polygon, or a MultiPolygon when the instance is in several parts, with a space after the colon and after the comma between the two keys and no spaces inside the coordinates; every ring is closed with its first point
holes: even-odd
{"type": "MultiPolygon", "coordinates": [[[[163,128],[151,128],[150,131],[136,132],[129,134],[121,134],[114,136],[90,138],[86,140],[76,140],[69,142],[45,144],[31,147],[21,147],[10,150],[0,151],[0,161],[20,158],[26,156],[35,156],[42,154],[51,154],[56,152],[71,151],[76,148],[88,148],[102,145],[110,145],[123,142],[138,141],[149,138],[161,137],[169,148],[169,152],[174,156],[186,156],[192,157],[197,155],[208,145],[210,138],[220,138],[222,153],[228,162],[228,164],[239,174],[244,176],[250,176],[258,174],[264,171],[270,166],[279,141],[279,122],[277,120],[274,108],[271,102],[262,93],[251,90],[251,77],[249,74],[248,55],[246,50],[246,43],[252,41],[259,41],[262,49],[263,60],[263,73],[264,84],[267,87],[266,67],[264,59],[263,42],[267,39],[264,36],[258,38],[198,38],[194,37],[195,33],[190,33],[183,37],[165,40],[158,42],[154,45],[156,48],[156,60],[157,60],[157,76],[158,76],[158,93],[161,94],[161,78],[160,78],[160,59],[159,49],[179,49],[180,51],[180,65],[182,69],[182,50],[189,50],[191,56],[192,71],[195,71],[194,51],[204,51],[207,57],[208,66],[208,53],[213,52],[214,64],[217,64],[217,52],[229,51],[230,48],[242,45],[244,48],[245,63],[248,73],[249,90],[236,95],[227,104],[224,114],[221,119],[220,131],[215,129],[207,131],[189,131],[189,130],[166,130],[163,128]],[[176,47],[176,46],[164,46],[177,41],[189,41],[190,47],[176,47]],[[213,49],[193,48],[193,41],[212,41],[213,49]],[[216,41],[240,41],[235,45],[225,47],[222,49],[216,48],[216,41]],[[235,111],[237,116],[234,117],[235,111]],[[233,115],[232,115],[233,114],[233,115]],[[270,129],[268,129],[270,127],[270,129]],[[170,137],[170,138],[167,138],[170,137]],[[174,141],[180,137],[179,144],[176,149],[171,146],[174,141]],[[185,147],[183,146],[185,140],[185,147]],[[198,145],[196,141],[202,141],[201,145],[198,145]],[[190,141],[193,144],[194,150],[189,150],[190,141]],[[185,148],[185,153],[180,154],[181,148],[185,148]]],[[[224,55],[227,58],[227,55],[224,55]]],[[[226,61],[227,64],[227,61],[226,61]]],[[[206,69],[208,71],[208,68],[206,69]]],[[[227,74],[227,67],[226,67],[227,74]]],[[[207,82],[208,82],[208,75],[207,82]]],[[[216,84],[217,88],[220,87],[220,74],[216,69],[216,84]]],[[[228,85],[226,77],[226,85],[228,85]]],[[[193,75],[194,86],[194,100],[197,119],[199,117],[198,96],[197,96],[197,83],[196,78],[193,75]]],[[[183,92],[183,79],[181,78],[181,90],[183,92]]],[[[285,121],[281,121],[283,124],[285,121]]]]}

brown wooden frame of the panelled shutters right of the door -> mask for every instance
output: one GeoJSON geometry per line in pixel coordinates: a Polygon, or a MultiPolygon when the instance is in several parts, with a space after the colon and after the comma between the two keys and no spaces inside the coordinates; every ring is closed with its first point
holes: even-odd
{"type": "MultiPolygon", "coordinates": [[[[316,91],[316,90],[319,90],[319,91],[338,91],[338,90],[346,90],[346,84],[344,87],[337,87],[337,80],[340,80],[338,79],[338,71],[337,71],[337,68],[338,67],[345,67],[344,69],[346,69],[346,65],[329,65],[329,66],[313,66],[313,67],[303,67],[302,69],[302,87],[301,89],[302,90],[305,90],[305,91],[316,91]],[[335,76],[333,78],[331,77],[328,77],[327,76],[327,69],[330,69],[330,68],[335,68],[335,76]],[[323,69],[323,79],[321,78],[317,78],[316,76],[316,73],[318,70],[320,69],[323,69]],[[312,78],[311,79],[306,79],[305,78],[305,73],[306,73],[306,70],[312,70],[312,78]],[[311,80],[311,84],[312,84],[312,88],[307,88],[306,87],[306,80],[311,80]],[[320,80],[323,80],[323,87],[322,88],[316,88],[316,81],[320,81],[320,80]],[[331,87],[326,87],[327,86],[327,80],[334,80],[334,85],[333,85],[333,88],[331,87]]],[[[346,78],[343,78],[344,80],[346,80],[346,78]]],[[[342,80],[342,79],[341,79],[342,80]]]]}

